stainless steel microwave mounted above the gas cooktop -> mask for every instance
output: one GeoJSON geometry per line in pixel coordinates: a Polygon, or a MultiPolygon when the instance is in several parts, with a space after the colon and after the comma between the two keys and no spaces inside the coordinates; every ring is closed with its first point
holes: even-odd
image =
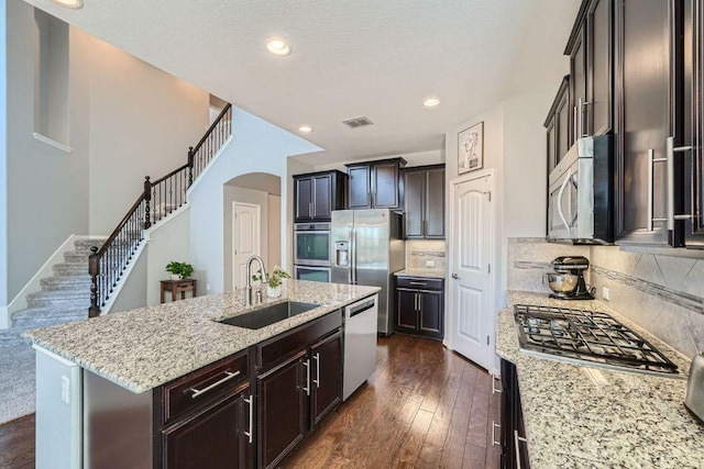
{"type": "Polygon", "coordinates": [[[614,241],[612,135],[579,138],[548,178],[548,241],[614,241]]]}

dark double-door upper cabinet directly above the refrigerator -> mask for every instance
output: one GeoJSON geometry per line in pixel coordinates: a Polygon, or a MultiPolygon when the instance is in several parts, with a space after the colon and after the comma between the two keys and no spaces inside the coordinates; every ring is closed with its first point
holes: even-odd
{"type": "Polygon", "coordinates": [[[348,167],[349,209],[400,209],[404,183],[400,169],[404,158],[353,163],[348,167]]]}

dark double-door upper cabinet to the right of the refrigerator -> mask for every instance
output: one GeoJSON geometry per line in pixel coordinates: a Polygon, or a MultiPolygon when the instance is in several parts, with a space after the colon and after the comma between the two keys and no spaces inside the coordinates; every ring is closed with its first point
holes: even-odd
{"type": "Polygon", "coordinates": [[[407,239],[444,239],[444,165],[405,168],[407,239]]]}

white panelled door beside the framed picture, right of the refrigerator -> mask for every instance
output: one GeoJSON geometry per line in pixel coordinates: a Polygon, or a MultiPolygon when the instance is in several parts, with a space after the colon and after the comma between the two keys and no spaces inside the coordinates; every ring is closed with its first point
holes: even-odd
{"type": "Polygon", "coordinates": [[[493,172],[484,172],[454,182],[450,200],[451,347],[486,369],[494,361],[493,191],[493,172]]]}

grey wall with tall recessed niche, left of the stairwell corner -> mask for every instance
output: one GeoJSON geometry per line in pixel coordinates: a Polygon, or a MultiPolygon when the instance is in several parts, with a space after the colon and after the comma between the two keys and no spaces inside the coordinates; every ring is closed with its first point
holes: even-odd
{"type": "MultiPolygon", "coordinates": [[[[34,138],[33,59],[38,47],[34,10],[22,1],[7,2],[7,305],[72,234],[88,234],[87,113],[90,64],[70,31],[68,94],[69,145],[62,150],[34,138]],[[76,51],[74,53],[74,47],[76,51]]],[[[6,37],[3,35],[3,37],[6,37]]],[[[6,113],[3,113],[4,119],[6,113]]],[[[6,127],[4,125],[2,126],[6,127]]],[[[6,233],[3,231],[3,233],[6,233]]]]}

